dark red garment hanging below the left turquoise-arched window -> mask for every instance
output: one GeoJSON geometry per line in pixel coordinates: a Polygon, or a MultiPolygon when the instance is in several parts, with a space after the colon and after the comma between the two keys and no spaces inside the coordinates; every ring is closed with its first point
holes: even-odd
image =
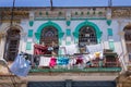
{"type": "Polygon", "coordinates": [[[34,45],[34,54],[51,54],[48,47],[41,45],[34,45]]]}

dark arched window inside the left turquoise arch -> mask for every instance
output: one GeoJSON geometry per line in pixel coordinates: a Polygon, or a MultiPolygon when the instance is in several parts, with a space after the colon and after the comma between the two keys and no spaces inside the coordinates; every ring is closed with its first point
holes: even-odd
{"type": "Polygon", "coordinates": [[[45,44],[45,46],[51,46],[52,42],[55,42],[56,45],[58,45],[58,30],[52,27],[52,26],[48,26],[45,27],[41,30],[41,35],[40,35],[40,44],[45,44]]]}

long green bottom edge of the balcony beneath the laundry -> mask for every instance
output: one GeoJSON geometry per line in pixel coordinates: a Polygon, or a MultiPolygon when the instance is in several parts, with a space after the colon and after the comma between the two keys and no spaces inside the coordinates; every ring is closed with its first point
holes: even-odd
{"type": "Polygon", "coordinates": [[[86,72],[120,72],[121,67],[88,67],[88,69],[32,69],[29,73],[86,73],[86,72]]]}

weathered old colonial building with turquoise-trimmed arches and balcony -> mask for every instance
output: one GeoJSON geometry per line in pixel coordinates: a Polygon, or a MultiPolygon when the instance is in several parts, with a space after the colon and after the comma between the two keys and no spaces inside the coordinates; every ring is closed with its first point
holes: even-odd
{"type": "MultiPolygon", "coordinates": [[[[38,80],[43,84],[48,80],[66,80],[66,84],[57,84],[60,87],[81,87],[81,80],[87,87],[94,87],[95,85],[91,85],[94,82],[96,86],[102,86],[103,83],[107,83],[109,87],[116,86],[116,77],[126,72],[131,62],[131,8],[112,7],[110,2],[102,7],[50,4],[14,7],[13,10],[11,7],[0,8],[0,59],[13,62],[19,53],[26,52],[36,66],[38,64],[34,59],[37,57],[34,55],[67,55],[70,60],[80,54],[88,54],[87,47],[100,45],[103,59],[94,58],[91,66],[87,65],[88,61],[85,66],[74,65],[73,70],[69,64],[53,69],[33,66],[27,76],[29,87],[36,87],[32,84],[38,80]],[[46,46],[48,52],[43,51],[45,48],[40,45],[46,46]],[[52,45],[56,46],[55,53],[49,51],[52,45]]],[[[94,50],[99,51],[97,48],[94,50]]]]}

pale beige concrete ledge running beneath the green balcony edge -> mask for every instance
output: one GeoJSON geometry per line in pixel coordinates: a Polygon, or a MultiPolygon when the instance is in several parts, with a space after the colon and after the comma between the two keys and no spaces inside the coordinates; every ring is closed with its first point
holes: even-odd
{"type": "Polygon", "coordinates": [[[27,82],[51,82],[51,80],[115,80],[117,76],[43,76],[43,75],[35,75],[35,76],[27,76],[27,82]]]}

